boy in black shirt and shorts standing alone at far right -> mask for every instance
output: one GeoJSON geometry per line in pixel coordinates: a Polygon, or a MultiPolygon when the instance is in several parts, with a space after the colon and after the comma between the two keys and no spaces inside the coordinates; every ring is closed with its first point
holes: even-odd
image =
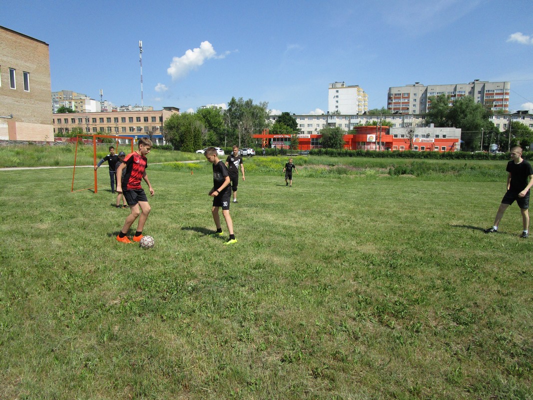
{"type": "Polygon", "coordinates": [[[507,210],[507,207],[513,204],[516,200],[516,204],[518,204],[520,212],[522,213],[524,227],[520,237],[525,239],[529,236],[529,189],[533,186],[533,168],[528,161],[522,158],[521,147],[513,147],[511,149],[511,161],[507,163],[506,171],[508,172],[507,192],[503,196],[502,204],[500,204],[498,212],[496,213],[494,226],[485,229],[484,232],[496,232],[505,210],[507,210]]]}

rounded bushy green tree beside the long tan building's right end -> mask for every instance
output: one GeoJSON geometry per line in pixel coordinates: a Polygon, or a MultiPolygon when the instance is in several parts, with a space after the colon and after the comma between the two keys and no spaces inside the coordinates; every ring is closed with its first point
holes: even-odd
{"type": "Polygon", "coordinates": [[[194,152],[202,147],[203,121],[196,114],[182,113],[169,117],[164,130],[176,150],[194,152]]]}

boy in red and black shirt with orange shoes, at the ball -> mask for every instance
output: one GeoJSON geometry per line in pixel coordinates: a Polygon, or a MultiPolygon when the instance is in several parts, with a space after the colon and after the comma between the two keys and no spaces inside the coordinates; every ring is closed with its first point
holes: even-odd
{"type": "Polygon", "coordinates": [[[137,217],[139,217],[139,223],[135,235],[133,236],[133,241],[141,241],[143,236],[142,229],[144,228],[144,223],[148,218],[148,214],[150,214],[151,207],[150,204],[148,204],[148,198],[142,189],[141,179],[144,179],[144,181],[148,183],[150,196],[154,196],[154,189],[152,189],[152,185],[150,185],[148,175],[146,174],[146,168],[148,167],[146,155],[150,153],[151,149],[152,141],[148,138],[140,138],[139,149],[128,154],[117,170],[117,193],[124,193],[124,198],[131,210],[130,215],[126,217],[122,230],[120,230],[120,233],[117,236],[117,241],[122,243],[132,243],[126,234],[137,217]],[[122,177],[122,170],[124,169],[126,169],[126,173],[124,174],[124,177],[122,177]]]}

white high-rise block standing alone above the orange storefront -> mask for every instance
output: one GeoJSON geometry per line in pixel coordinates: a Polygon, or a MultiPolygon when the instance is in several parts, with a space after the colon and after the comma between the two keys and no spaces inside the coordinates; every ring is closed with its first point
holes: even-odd
{"type": "Polygon", "coordinates": [[[368,111],[368,95],[359,85],[344,82],[329,84],[328,111],[330,114],[363,114],[368,111]]]}

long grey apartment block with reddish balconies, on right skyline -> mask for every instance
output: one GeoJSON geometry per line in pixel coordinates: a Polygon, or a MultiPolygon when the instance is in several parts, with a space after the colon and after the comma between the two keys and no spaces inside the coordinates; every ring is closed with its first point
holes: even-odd
{"type": "Polygon", "coordinates": [[[492,111],[508,113],[509,82],[488,82],[475,79],[470,83],[425,86],[419,82],[414,85],[389,87],[387,109],[398,114],[425,114],[431,108],[431,97],[441,94],[449,96],[450,105],[463,96],[473,97],[478,103],[492,111]]]}

